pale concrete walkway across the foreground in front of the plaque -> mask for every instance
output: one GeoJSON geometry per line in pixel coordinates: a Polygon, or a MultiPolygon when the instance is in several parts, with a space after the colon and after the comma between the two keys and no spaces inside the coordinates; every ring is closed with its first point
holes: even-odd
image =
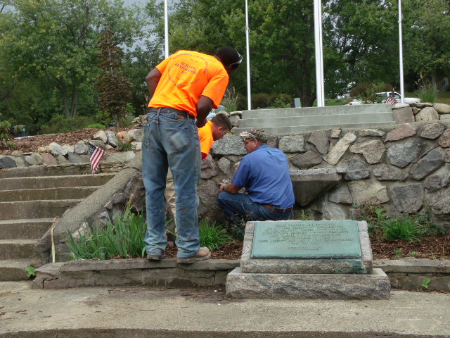
{"type": "Polygon", "coordinates": [[[450,337],[450,294],[394,291],[389,301],[232,301],[214,289],[30,286],[0,283],[1,338],[450,337]]]}

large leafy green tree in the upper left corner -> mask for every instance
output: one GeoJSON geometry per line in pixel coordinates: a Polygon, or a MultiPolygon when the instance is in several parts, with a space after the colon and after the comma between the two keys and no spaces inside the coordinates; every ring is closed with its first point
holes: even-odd
{"type": "Polygon", "coordinates": [[[141,34],[142,20],[120,0],[15,0],[0,49],[15,73],[58,90],[67,118],[77,114],[83,86],[98,75],[98,27],[110,25],[120,43],[141,34]]]}

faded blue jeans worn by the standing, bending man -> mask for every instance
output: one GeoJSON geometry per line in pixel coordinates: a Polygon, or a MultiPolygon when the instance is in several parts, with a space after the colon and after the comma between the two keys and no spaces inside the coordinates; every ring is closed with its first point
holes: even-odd
{"type": "Polygon", "coordinates": [[[148,254],[162,255],[166,249],[164,192],[169,167],[176,192],[177,256],[193,256],[200,249],[197,215],[197,183],[200,177],[198,129],[191,118],[180,118],[176,113],[160,113],[158,109],[149,108],[148,125],[143,125],[143,137],[146,251],[148,254]]]}

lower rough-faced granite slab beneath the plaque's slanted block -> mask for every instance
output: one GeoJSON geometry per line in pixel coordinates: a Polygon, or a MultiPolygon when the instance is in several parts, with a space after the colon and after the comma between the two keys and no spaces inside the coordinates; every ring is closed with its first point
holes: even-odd
{"type": "Polygon", "coordinates": [[[390,280],[381,269],[370,275],[242,273],[226,278],[226,295],[236,299],[389,299],[390,280]]]}

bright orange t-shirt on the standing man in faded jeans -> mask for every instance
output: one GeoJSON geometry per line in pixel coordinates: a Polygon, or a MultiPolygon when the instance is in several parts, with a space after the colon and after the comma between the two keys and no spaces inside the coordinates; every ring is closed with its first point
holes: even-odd
{"type": "Polygon", "coordinates": [[[212,108],[217,108],[229,81],[217,58],[197,51],[177,51],[156,68],[162,76],[148,107],[179,109],[195,117],[200,96],[212,99],[212,108]]]}

